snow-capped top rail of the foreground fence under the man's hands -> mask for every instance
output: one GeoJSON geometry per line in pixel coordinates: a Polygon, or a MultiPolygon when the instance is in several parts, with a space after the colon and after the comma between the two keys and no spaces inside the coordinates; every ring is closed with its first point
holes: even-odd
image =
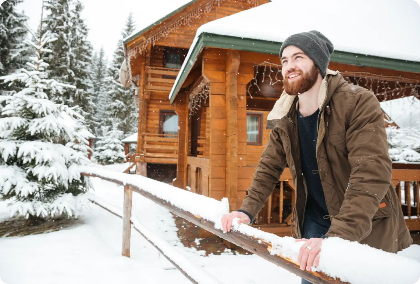
{"type": "MultiPolygon", "coordinates": [[[[227,199],[217,201],[139,175],[93,167],[84,167],[81,172],[86,176],[96,176],[122,184],[126,186],[125,192],[137,192],[220,238],[239,245],[312,283],[415,284],[420,280],[420,262],[340,238],[325,239],[319,266],[312,267],[313,271],[302,271],[297,263],[302,243],[296,242],[294,238],[281,238],[248,225],[238,226],[237,223],[233,225],[234,231],[223,233],[220,220],[223,214],[229,212],[227,199]]],[[[126,196],[128,195],[124,196],[125,209],[128,207],[126,196]]],[[[129,207],[127,214],[131,216],[131,204],[129,207]]],[[[124,224],[127,224],[127,221],[124,224]]],[[[127,240],[123,242],[123,246],[125,243],[127,240]]]]}

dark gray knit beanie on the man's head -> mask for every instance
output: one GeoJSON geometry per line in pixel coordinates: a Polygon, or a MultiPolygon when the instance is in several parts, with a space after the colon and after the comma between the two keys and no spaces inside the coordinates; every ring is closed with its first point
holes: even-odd
{"type": "Polygon", "coordinates": [[[334,51],[332,42],[319,31],[308,31],[304,33],[289,36],[280,47],[280,58],[283,49],[286,46],[293,45],[302,49],[302,51],[314,62],[315,66],[325,77],[328,64],[330,63],[330,54],[334,51]]]}

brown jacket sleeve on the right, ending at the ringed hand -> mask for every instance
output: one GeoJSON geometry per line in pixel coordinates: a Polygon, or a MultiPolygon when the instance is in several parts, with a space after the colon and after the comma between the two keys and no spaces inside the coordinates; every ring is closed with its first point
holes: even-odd
{"type": "Polygon", "coordinates": [[[359,242],[372,230],[372,218],[391,184],[392,163],[375,95],[367,90],[356,93],[349,109],[346,143],[352,172],[340,212],[325,235],[359,242]]]}

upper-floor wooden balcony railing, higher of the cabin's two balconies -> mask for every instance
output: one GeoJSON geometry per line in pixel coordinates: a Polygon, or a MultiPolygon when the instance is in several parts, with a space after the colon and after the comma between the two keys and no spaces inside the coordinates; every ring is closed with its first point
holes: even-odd
{"type": "Polygon", "coordinates": [[[179,69],[166,67],[146,67],[147,82],[144,90],[170,92],[178,76],[179,69]]]}

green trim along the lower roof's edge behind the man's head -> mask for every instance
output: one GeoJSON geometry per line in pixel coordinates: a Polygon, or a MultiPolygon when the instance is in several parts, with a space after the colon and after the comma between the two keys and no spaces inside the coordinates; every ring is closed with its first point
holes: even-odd
{"type": "MultiPolygon", "coordinates": [[[[199,35],[197,44],[194,45],[191,55],[185,60],[182,72],[178,74],[176,85],[172,88],[169,98],[171,103],[175,100],[184,80],[195,64],[195,60],[203,47],[216,47],[236,49],[267,54],[278,54],[281,42],[265,41],[260,39],[247,39],[236,36],[223,36],[218,34],[202,33],[199,35]]],[[[334,51],[331,54],[331,62],[377,67],[405,72],[420,73],[420,62],[401,59],[391,59],[373,55],[357,54],[351,52],[334,51]]]]}

